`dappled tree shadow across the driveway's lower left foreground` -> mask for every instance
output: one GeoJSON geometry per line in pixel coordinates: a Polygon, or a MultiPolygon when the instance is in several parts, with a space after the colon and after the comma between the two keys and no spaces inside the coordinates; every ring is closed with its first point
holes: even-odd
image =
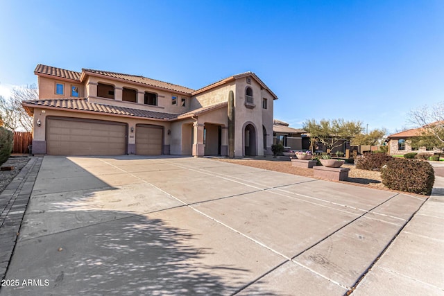
{"type": "Polygon", "coordinates": [[[246,284],[249,270],[212,262],[213,251],[194,240],[163,220],[132,216],[21,241],[6,279],[49,286],[5,286],[0,294],[230,295],[246,284]]]}

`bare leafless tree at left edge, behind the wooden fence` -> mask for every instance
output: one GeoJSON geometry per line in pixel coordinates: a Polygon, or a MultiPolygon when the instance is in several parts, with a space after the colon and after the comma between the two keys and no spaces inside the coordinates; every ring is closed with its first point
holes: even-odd
{"type": "Polygon", "coordinates": [[[31,132],[33,130],[33,118],[26,113],[22,102],[37,100],[38,98],[36,85],[15,87],[12,89],[12,96],[9,99],[0,96],[0,116],[3,125],[10,130],[24,128],[27,132],[31,132]]]}

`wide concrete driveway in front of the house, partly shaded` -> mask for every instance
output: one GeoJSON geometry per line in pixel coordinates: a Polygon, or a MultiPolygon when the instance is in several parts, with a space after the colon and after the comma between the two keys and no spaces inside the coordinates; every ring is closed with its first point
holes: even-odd
{"type": "Polygon", "coordinates": [[[212,159],[44,157],[0,294],[344,295],[424,201],[212,159]]]}

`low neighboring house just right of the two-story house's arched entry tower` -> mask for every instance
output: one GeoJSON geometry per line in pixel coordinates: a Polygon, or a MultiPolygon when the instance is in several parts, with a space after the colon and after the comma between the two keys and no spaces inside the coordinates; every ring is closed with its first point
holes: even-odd
{"type": "Polygon", "coordinates": [[[284,121],[273,121],[273,144],[281,144],[291,150],[308,150],[310,139],[305,130],[290,128],[284,121]]]}

